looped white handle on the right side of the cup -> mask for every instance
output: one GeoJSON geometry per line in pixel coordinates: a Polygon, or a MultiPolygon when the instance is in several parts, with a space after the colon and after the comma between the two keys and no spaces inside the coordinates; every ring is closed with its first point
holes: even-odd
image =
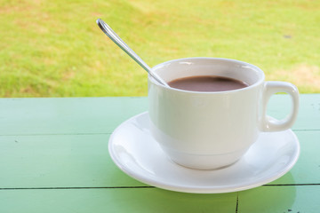
{"type": "Polygon", "coordinates": [[[299,91],[295,85],[286,82],[266,82],[264,85],[262,97],[262,117],[260,130],[262,131],[280,131],[292,127],[295,122],[299,109],[299,91]],[[283,120],[276,120],[267,115],[268,100],[276,92],[288,93],[292,99],[292,110],[283,120]]]}

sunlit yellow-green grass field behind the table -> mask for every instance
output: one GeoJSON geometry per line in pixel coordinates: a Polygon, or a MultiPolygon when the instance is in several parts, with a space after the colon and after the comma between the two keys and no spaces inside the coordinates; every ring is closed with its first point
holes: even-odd
{"type": "Polygon", "coordinates": [[[219,57],[320,92],[320,1],[0,0],[0,97],[146,96],[149,66],[219,57]]]}

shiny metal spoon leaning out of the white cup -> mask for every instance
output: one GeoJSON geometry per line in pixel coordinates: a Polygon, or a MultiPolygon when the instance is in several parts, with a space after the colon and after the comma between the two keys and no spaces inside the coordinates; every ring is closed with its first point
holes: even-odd
{"type": "Polygon", "coordinates": [[[159,75],[156,75],[156,73],[153,73],[151,71],[151,68],[148,67],[148,65],[142,59],[140,59],[140,57],[134,51],[132,51],[132,49],[126,43],[124,43],[124,41],[119,36],[116,35],[115,31],[113,31],[112,28],[108,26],[108,24],[100,19],[97,20],[97,24],[100,29],[114,43],[116,43],[116,45],[118,45],[123,51],[125,51],[125,53],[127,53],[132,59],[134,59],[142,68],[144,68],[148,72],[148,74],[151,75],[158,83],[163,84],[165,87],[170,87],[168,83],[165,83],[164,80],[159,77],[159,75]]]}

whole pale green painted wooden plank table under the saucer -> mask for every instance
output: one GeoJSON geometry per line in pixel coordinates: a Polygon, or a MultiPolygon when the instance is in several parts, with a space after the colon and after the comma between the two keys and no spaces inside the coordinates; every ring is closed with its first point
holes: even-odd
{"type": "MultiPolygon", "coordinates": [[[[289,99],[274,96],[281,117],[289,99]]],[[[320,212],[320,94],[300,96],[300,159],[268,185],[176,193],[119,170],[108,138],[147,98],[0,99],[0,212],[320,212]]]]}

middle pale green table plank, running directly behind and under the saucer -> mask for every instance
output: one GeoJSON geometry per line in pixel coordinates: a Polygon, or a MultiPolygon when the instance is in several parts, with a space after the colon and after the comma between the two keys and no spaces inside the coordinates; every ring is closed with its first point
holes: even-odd
{"type": "MultiPolygon", "coordinates": [[[[298,131],[300,159],[272,185],[320,184],[320,130],[298,131]]],[[[144,185],[119,170],[109,135],[0,137],[0,188],[144,185]]]]}

